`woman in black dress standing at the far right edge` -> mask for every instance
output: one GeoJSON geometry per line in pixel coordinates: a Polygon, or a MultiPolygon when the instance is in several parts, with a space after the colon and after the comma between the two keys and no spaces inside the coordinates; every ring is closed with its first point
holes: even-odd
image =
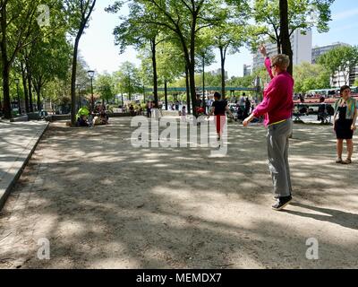
{"type": "Polygon", "coordinates": [[[335,103],[335,117],[333,119],[333,128],[337,135],[337,163],[352,163],[353,155],[353,134],[355,130],[355,121],[357,119],[357,103],[351,97],[349,86],[343,86],[340,90],[341,98],[335,103]],[[347,144],[347,158],[342,161],[343,142],[347,144]]]}

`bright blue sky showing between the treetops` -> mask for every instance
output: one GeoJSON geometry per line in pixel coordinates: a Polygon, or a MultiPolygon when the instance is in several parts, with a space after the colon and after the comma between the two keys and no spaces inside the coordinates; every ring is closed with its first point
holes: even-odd
{"type": "MultiPolygon", "coordinates": [[[[128,48],[126,52],[119,55],[118,47],[115,47],[113,29],[119,23],[118,15],[107,13],[104,8],[114,3],[113,0],[98,1],[96,10],[92,15],[90,27],[81,38],[81,55],[90,65],[91,69],[98,73],[112,73],[118,70],[119,65],[124,61],[131,61],[140,65],[136,57],[136,52],[128,48]]],[[[328,33],[320,34],[313,30],[313,46],[328,45],[333,42],[345,42],[351,45],[358,45],[358,1],[356,0],[336,0],[331,7],[332,22],[329,22],[330,30],[328,33]]],[[[125,11],[124,11],[125,13],[125,11]]],[[[243,75],[243,64],[251,64],[251,54],[246,48],[242,48],[241,53],[229,55],[226,59],[226,70],[231,76],[243,75]]],[[[220,67],[219,57],[217,63],[206,67],[214,70],[220,67]]]]}

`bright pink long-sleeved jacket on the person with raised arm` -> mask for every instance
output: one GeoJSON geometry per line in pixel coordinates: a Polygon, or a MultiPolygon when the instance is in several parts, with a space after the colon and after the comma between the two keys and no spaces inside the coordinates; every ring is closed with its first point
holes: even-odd
{"type": "Polygon", "coordinates": [[[292,117],[294,109],[294,79],[287,72],[281,72],[276,77],[271,72],[271,61],[267,57],[265,65],[272,81],[263,91],[263,100],[252,111],[254,117],[265,115],[265,126],[292,117]]]}

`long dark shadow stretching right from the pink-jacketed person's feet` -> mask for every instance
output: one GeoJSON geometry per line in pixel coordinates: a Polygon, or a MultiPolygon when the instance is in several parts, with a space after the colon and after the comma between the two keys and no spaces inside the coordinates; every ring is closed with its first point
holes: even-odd
{"type": "Polygon", "coordinates": [[[303,212],[296,212],[292,210],[284,210],[284,212],[298,215],[298,216],[313,218],[315,220],[322,221],[322,222],[332,222],[346,228],[358,230],[358,214],[345,213],[335,209],[321,208],[321,207],[316,207],[306,204],[292,203],[291,205],[303,207],[306,209],[311,209],[312,211],[316,211],[319,213],[326,213],[327,215],[303,213],[303,212]]]}

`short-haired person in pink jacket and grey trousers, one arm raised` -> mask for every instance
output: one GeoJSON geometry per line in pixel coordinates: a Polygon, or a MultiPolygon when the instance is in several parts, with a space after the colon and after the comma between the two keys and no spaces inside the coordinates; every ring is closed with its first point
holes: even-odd
{"type": "Polygon", "coordinates": [[[292,135],[294,109],[294,79],[287,73],[289,57],[283,54],[268,57],[266,48],[260,47],[271,82],[263,92],[263,100],[243,121],[248,126],[254,117],[265,117],[268,127],[268,166],[274,185],[277,203],[274,210],[281,210],[292,200],[290,168],[288,164],[288,139],[292,135]]]}

